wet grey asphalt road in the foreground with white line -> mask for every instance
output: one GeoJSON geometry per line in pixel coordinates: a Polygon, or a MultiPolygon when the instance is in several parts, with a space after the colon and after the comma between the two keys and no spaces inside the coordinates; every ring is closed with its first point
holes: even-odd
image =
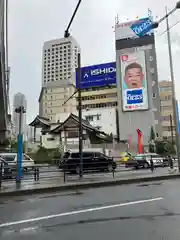
{"type": "Polygon", "coordinates": [[[177,240],[180,181],[0,200],[0,239],[177,240]]]}

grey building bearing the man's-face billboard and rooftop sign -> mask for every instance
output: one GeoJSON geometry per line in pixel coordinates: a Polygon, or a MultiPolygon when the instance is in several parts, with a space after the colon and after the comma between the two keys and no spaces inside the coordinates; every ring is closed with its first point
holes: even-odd
{"type": "Polygon", "coordinates": [[[138,129],[144,145],[151,127],[162,135],[154,32],[138,34],[150,22],[148,17],[115,26],[120,140],[134,145],[138,129]]]}

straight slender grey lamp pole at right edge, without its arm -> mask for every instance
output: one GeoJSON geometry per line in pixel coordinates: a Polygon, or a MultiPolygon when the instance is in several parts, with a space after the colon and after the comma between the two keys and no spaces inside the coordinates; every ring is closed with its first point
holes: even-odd
{"type": "MultiPolygon", "coordinates": [[[[166,15],[167,15],[167,7],[166,7],[166,15]]],[[[176,112],[175,83],[174,83],[173,59],[172,59],[172,49],[171,49],[171,36],[170,36],[170,28],[169,28],[168,17],[166,18],[166,26],[167,26],[169,65],[170,65],[170,74],[171,74],[171,82],[172,82],[173,120],[174,120],[174,126],[175,126],[176,149],[177,149],[177,157],[178,157],[178,169],[179,169],[179,172],[180,172],[180,151],[179,151],[179,136],[178,136],[177,112],[176,112]]]]}

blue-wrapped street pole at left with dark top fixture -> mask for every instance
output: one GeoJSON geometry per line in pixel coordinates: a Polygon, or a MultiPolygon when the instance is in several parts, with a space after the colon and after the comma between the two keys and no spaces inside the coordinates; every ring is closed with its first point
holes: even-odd
{"type": "Polygon", "coordinates": [[[19,106],[15,109],[15,112],[19,114],[19,129],[18,129],[18,137],[17,137],[17,175],[16,175],[16,183],[21,182],[22,177],[22,154],[23,154],[23,136],[22,136],[22,118],[23,114],[26,112],[23,106],[19,106]]]}

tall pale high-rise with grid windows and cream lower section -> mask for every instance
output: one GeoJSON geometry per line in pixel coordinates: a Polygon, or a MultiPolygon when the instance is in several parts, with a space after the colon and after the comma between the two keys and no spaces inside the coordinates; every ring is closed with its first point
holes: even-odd
{"type": "Polygon", "coordinates": [[[42,89],[39,115],[55,121],[56,114],[76,109],[74,98],[63,104],[75,91],[75,69],[80,47],[73,37],[47,41],[43,46],[42,89]]]}

